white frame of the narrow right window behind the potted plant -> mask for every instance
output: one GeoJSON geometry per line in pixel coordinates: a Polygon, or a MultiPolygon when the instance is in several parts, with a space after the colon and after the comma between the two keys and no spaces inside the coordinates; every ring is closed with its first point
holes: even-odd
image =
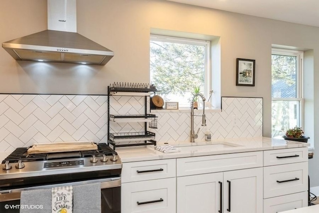
{"type": "MultiPolygon", "coordinates": [[[[296,70],[296,98],[273,98],[273,101],[299,101],[300,112],[299,112],[299,127],[304,127],[304,52],[298,50],[287,50],[287,49],[276,49],[272,48],[272,55],[286,55],[297,57],[297,70],[296,70]]],[[[273,82],[272,82],[273,83],[273,82]]]]}

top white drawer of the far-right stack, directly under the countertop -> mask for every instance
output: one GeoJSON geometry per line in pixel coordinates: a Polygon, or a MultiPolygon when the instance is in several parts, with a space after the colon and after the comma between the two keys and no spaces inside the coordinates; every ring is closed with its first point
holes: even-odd
{"type": "Polygon", "coordinates": [[[291,164],[308,161],[308,148],[264,151],[264,166],[291,164]]]}

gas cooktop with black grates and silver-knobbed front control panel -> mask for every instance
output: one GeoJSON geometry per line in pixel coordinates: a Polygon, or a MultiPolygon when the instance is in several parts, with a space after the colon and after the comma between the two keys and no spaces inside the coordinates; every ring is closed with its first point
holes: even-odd
{"type": "Polygon", "coordinates": [[[97,147],[45,154],[27,154],[28,148],[17,148],[2,161],[0,180],[122,169],[121,159],[113,149],[106,143],[97,147]]]}

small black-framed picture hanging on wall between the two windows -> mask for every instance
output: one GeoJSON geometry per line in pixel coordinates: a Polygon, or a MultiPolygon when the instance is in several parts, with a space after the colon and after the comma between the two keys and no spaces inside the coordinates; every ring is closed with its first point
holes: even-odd
{"type": "Polygon", "coordinates": [[[237,58],[236,86],[255,86],[255,60],[237,58]]]}

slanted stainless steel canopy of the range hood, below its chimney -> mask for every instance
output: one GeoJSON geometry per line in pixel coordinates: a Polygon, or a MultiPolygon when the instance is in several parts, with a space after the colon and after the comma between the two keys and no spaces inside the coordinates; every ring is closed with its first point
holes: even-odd
{"type": "Polygon", "coordinates": [[[44,30],[2,43],[15,60],[105,65],[114,52],[76,32],[44,30]]]}

